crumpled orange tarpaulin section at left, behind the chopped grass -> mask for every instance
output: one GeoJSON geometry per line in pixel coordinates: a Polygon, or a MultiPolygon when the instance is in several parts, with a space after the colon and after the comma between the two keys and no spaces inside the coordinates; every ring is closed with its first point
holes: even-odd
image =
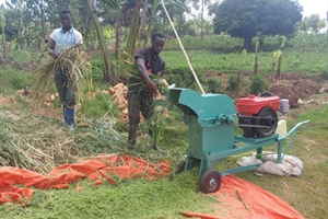
{"type": "MultiPolygon", "coordinates": [[[[34,191],[39,189],[68,188],[70,183],[89,177],[98,185],[106,178],[115,184],[110,173],[120,177],[147,177],[154,180],[155,176],[165,176],[171,173],[168,162],[156,164],[148,163],[141,159],[128,155],[101,154],[92,159],[85,159],[73,164],[63,164],[54,169],[48,175],[35,173],[19,168],[0,168],[0,204],[22,201],[27,205],[34,191]],[[15,185],[24,185],[20,188],[15,185]]],[[[79,186],[77,189],[81,189],[79,186]]]]}

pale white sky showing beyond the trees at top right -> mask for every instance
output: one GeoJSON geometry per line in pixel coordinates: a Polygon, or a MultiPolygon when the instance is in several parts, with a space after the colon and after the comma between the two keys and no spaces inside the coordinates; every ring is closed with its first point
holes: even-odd
{"type": "MultiPolygon", "coordinates": [[[[5,0],[0,0],[0,4],[4,2],[5,0]]],[[[320,19],[327,18],[328,0],[298,0],[298,2],[303,7],[303,16],[319,14],[320,19]]]]}

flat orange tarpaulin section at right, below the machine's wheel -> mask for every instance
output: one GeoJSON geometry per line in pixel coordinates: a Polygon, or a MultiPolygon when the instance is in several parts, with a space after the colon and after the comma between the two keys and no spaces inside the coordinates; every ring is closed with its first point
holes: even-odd
{"type": "Polygon", "coordinates": [[[220,204],[215,214],[202,215],[185,212],[186,217],[201,219],[302,219],[303,216],[294,210],[288,203],[273,194],[247,181],[226,175],[222,177],[221,188],[211,194],[220,204]],[[238,197],[241,195],[243,201],[238,197]],[[244,205],[245,204],[245,205],[244,205]]]}

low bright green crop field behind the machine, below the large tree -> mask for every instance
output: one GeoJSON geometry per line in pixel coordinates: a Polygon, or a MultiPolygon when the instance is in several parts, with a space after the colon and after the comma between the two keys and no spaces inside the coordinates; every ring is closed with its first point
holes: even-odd
{"type": "MultiPolygon", "coordinates": [[[[280,44],[277,44],[280,47],[280,44]]],[[[323,73],[327,69],[327,51],[325,48],[320,48],[320,46],[328,46],[327,43],[316,44],[317,48],[315,49],[306,49],[302,51],[291,49],[291,47],[286,46],[284,49],[281,49],[283,53],[283,62],[281,66],[281,72],[309,72],[309,73],[323,73]]],[[[261,47],[261,46],[259,46],[261,47]]],[[[304,48],[307,48],[307,45],[304,45],[304,48]]],[[[277,50],[277,48],[274,49],[277,50]]],[[[162,51],[161,56],[166,62],[166,72],[171,74],[171,71],[175,69],[187,69],[188,64],[186,58],[183,56],[180,51],[162,51]]],[[[220,72],[236,72],[239,70],[241,60],[244,55],[238,54],[218,54],[210,50],[189,50],[188,56],[190,62],[194,68],[196,68],[196,72],[204,72],[204,71],[220,71],[220,72]]],[[[272,53],[260,51],[257,54],[259,59],[258,72],[271,72],[272,66],[272,53]]],[[[243,71],[254,72],[254,54],[247,53],[245,57],[245,65],[243,66],[243,71]]],[[[177,76],[176,76],[177,77],[177,76]]],[[[171,79],[171,76],[168,77],[171,79]]],[[[180,77],[175,78],[176,81],[184,80],[178,79],[180,77]]]]}

